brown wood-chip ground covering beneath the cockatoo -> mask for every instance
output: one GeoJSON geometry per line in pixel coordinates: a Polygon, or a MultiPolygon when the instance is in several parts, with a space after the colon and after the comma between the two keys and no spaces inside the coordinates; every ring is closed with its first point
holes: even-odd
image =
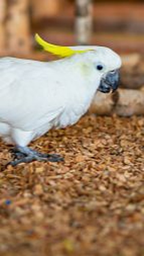
{"type": "Polygon", "coordinates": [[[86,115],[31,147],[65,161],[5,168],[0,142],[1,256],[144,255],[144,117],[86,115]]]}

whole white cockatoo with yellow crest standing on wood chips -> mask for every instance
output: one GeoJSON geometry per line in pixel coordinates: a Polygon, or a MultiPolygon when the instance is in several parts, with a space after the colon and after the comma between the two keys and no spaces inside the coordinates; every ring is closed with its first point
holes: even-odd
{"type": "Polygon", "coordinates": [[[0,136],[14,144],[13,166],[32,160],[60,161],[27,145],[51,128],[73,125],[88,110],[97,90],[118,87],[121,58],[102,46],[57,46],[36,41],[63,58],[51,62],[0,58],[0,136]]]}

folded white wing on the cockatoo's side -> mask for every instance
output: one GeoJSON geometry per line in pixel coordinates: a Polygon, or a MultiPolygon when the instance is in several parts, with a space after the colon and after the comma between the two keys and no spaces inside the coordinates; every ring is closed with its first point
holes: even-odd
{"type": "Polygon", "coordinates": [[[61,84],[48,63],[0,59],[0,120],[14,128],[35,130],[64,109],[61,84]]]}

